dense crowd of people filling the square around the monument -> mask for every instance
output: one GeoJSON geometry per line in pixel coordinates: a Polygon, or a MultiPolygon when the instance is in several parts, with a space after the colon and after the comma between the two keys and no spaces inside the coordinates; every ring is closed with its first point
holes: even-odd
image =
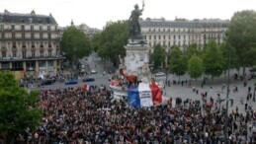
{"type": "Polygon", "coordinates": [[[27,130],[19,143],[218,144],[224,133],[230,143],[256,138],[251,107],[245,114],[236,108],[226,117],[225,108],[204,95],[200,101],[170,99],[150,108],[129,107],[125,101],[114,100],[106,87],[42,90],[42,124],[34,133],[27,130]]]}

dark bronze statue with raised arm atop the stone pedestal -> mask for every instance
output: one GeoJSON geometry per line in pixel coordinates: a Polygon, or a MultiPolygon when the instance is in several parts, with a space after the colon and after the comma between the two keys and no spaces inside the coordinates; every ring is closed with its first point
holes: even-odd
{"type": "Polygon", "coordinates": [[[142,2],[142,9],[138,9],[138,5],[134,5],[134,10],[131,11],[131,15],[128,19],[129,25],[129,38],[131,39],[143,39],[141,35],[140,25],[139,25],[139,16],[142,15],[144,10],[144,2],[142,2]]]}

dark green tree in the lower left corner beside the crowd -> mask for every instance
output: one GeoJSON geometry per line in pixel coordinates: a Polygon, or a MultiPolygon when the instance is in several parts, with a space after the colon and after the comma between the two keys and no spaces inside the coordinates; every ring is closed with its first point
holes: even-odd
{"type": "Polygon", "coordinates": [[[39,126],[42,109],[37,105],[38,96],[38,91],[28,94],[20,88],[10,72],[0,72],[0,135],[5,143],[27,128],[39,126]]]}

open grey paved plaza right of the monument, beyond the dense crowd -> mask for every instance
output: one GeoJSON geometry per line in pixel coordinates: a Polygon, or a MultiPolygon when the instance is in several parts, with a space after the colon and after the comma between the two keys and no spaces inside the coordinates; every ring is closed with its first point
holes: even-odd
{"type": "MultiPolygon", "coordinates": [[[[233,99],[233,106],[230,107],[230,102],[229,102],[229,111],[232,109],[235,110],[236,106],[238,107],[240,112],[245,112],[245,106],[244,104],[246,103],[246,97],[248,95],[248,87],[251,87],[250,93],[253,96],[254,93],[254,83],[256,83],[256,79],[249,80],[250,78],[250,72],[246,70],[246,80],[240,81],[240,80],[234,80],[233,75],[236,71],[230,72],[230,84],[229,84],[229,89],[230,93],[228,95],[229,99],[233,99]],[[244,87],[244,82],[247,83],[246,87],[244,87]],[[238,92],[233,92],[233,89],[237,87],[238,92]],[[243,99],[243,104],[241,104],[241,99],[243,99]]],[[[240,73],[241,74],[241,73],[240,73]]],[[[156,78],[156,80],[165,80],[166,77],[162,78],[156,78]]],[[[213,81],[211,78],[208,78],[206,85],[203,86],[202,88],[202,82],[203,78],[199,80],[192,80],[191,85],[189,84],[190,78],[188,76],[182,76],[180,78],[180,81],[184,81],[184,85],[182,86],[180,84],[173,84],[173,81],[175,80],[178,82],[179,78],[176,76],[170,76],[168,77],[168,80],[171,82],[171,86],[168,87],[166,86],[166,96],[171,97],[173,100],[176,99],[177,97],[182,98],[183,100],[186,99],[192,99],[192,100],[202,100],[201,93],[208,93],[208,101],[212,97],[213,100],[215,101],[217,99],[217,94],[220,95],[221,99],[226,98],[226,92],[227,92],[227,76],[222,75],[219,78],[214,78],[213,81]],[[187,80],[187,84],[185,81],[187,80]],[[221,90],[223,84],[225,85],[225,88],[223,91],[221,90]],[[211,89],[212,87],[212,89],[211,89]],[[198,94],[196,92],[193,92],[193,88],[198,90],[198,94]]],[[[256,102],[253,102],[250,100],[248,102],[249,105],[252,106],[253,109],[256,110],[256,102]]],[[[222,102],[221,105],[225,106],[225,102],[222,102]]]]}

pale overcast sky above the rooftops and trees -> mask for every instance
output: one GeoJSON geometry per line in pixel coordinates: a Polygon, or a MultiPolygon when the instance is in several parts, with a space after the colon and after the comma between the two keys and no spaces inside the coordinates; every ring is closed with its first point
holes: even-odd
{"type": "MultiPolygon", "coordinates": [[[[256,11],[256,0],[144,0],[140,18],[175,20],[182,18],[230,20],[242,10],[256,11]]],[[[142,7],[142,0],[0,0],[0,13],[51,15],[58,26],[66,27],[86,24],[91,28],[103,29],[107,22],[128,20],[133,6],[142,7]]]]}

